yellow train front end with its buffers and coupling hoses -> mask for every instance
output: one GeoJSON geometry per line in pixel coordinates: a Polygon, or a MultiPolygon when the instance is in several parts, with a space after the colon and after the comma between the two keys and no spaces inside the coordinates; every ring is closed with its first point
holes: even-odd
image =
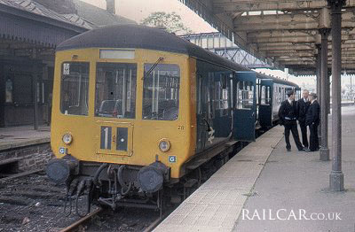
{"type": "Polygon", "coordinates": [[[113,207],[178,180],[196,144],[195,64],[159,50],[57,51],[51,180],[69,195],[96,189],[113,207]]]}

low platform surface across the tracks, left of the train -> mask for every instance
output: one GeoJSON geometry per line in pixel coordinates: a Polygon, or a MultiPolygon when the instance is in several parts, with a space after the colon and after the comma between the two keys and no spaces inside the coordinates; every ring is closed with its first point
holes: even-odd
{"type": "Polygon", "coordinates": [[[0,128],[0,151],[37,143],[49,143],[50,134],[50,127],[46,126],[40,127],[37,131],[33,126],[0,128]]]}

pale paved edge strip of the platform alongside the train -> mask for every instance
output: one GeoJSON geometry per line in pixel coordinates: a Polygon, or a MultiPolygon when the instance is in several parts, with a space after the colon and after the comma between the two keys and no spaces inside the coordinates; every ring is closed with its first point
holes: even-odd
{"type": "Polygon", "coordinates": [[[257,177],[282,138],[272,128],[222,166],[154,231],[231,231],[257,177]]]}

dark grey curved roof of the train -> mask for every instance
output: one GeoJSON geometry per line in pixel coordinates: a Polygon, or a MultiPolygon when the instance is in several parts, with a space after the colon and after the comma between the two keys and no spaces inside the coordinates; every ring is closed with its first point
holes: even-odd
{"type": "MultiPolygon", "coordinates": [[[[114,25],[99,27],[76,35],[60,43],[57,50],[74,50],[85,48],[122,48],[163,50],[186,54],[209,63],[225,66],[235,71],[250,71],[250,69],[222,58],[217,54],[185,41],[177,35],[165,30],[140,25],[114,25]]],[[[295,83],[256,73],[258,78],[272,79],[275,82],[297,87],[295,83]]]]}

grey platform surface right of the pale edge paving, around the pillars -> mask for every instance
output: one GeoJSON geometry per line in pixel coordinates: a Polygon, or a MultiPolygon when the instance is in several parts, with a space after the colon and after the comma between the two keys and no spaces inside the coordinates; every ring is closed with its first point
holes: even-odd
{"type": "MultiPolygon", "coordinates": [[[[331,161],[319,161],[318,151],[287,152],[282,139],[256,181],[233,231],[355,231],[355,106],[343,107],[342,118],[346,190],[329,191],[331,161]]],[[[329,124],[329,145],[331,142],[329,124]]]]}

